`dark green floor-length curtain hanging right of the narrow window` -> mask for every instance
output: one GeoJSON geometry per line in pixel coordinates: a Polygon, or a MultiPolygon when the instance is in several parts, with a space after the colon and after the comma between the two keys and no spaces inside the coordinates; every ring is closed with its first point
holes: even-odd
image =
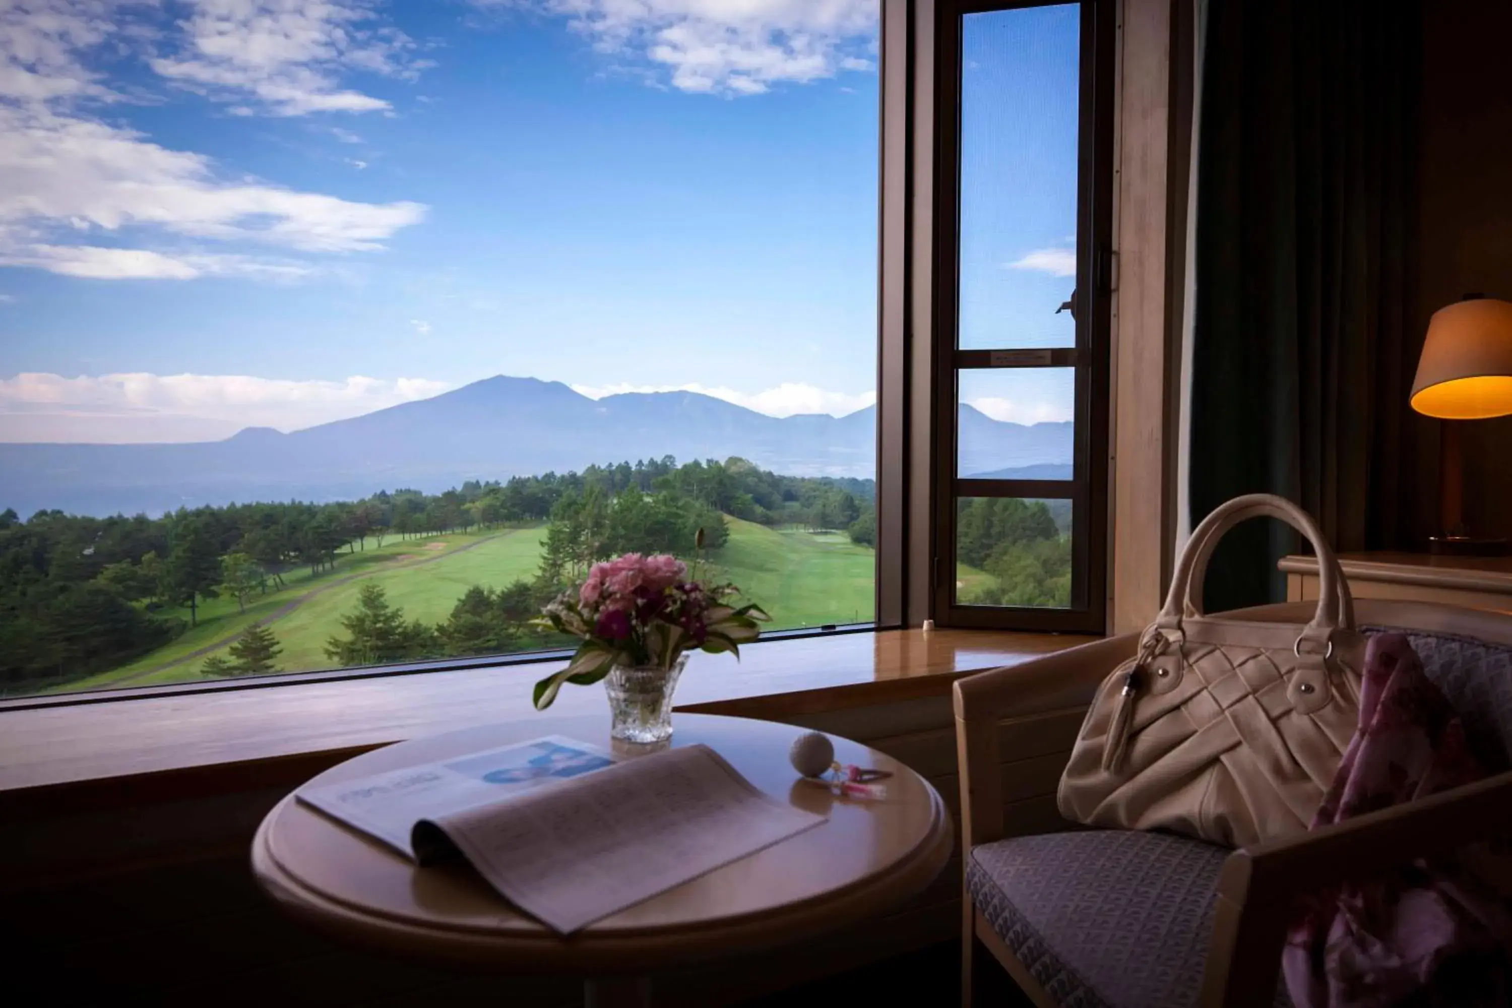
{"type": "MultiPolygon", "coordinates": [[[[1432,527],[1436,434],[1408,408],[1423,342],[1406,323],[1417,38],[1411,3],[1210,0],[1193,524],[1269,491],[1340,552],[1421,549],[1432,527]]],[[[1276,561],[1297,549],[1278,523],[1240,526],[1213,559],[1208,609],[1282,598],[1276,561]]]]}

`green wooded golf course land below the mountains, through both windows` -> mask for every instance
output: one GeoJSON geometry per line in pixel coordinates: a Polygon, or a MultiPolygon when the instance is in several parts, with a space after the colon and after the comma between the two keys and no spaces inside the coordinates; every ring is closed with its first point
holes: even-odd
{"type": "MultiPolygon", "coordinates": [[[[1069,518],[1067,502],[962,500],[960,601],[1069,604],[1069,518]]],[[[626,552],[699,561],[774,629],[865,623],[874,546],[871,481],[739,458],[157,518],[5,511],[0,695],[564,647],[529,620],[626,552]]]]}

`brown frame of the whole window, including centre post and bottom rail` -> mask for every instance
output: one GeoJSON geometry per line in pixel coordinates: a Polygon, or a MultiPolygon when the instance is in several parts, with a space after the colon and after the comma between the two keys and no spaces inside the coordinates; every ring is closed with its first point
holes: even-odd
{"type": "MultiPolygon", "coordinates": [[[[877,192],[877,543],[874,618],[868,624],[794,629],[767,641],[869,633],[919,626],[998,630],[1105,632],[1108,508],[1108,332],[1114,121],[1114,3],[1083,0],[1081,133],[1078,154],[1077,479],[1086,506],[1074,523],[1077,609],[956,606],[943,564],[954,562],[960,17],[1049,6],[980,0],[878,0],[877,192]],[[1092,41],[1089,42],[1089,33],[1092,41]],[[1087,53],[1093,57],[1087,59],[1087,53]],[[1095,248],[1096,255],[1081,254],[1095,248]],[[1083,293],[1087,292],[1087,293],[1083,293]],[[1090,311],[1086,307],[1090,307],[1090,311]],[[1084,416],[1086,414],[1086,416],[1084,416]],[[943,591],[942,591],[943,589],[943,591]]],[[[1052,351],[1051,363],[1067,351],[1052,351]]],[[[1066,496],[1054,481],[965,481],[983,496],[1066,496]]],[[[183,694],[254,691],[426,673],[556,662],[570,651],[522,651],[401,662],[227,682],[124,686],[0,700],[0,713],[183,694]]]]}

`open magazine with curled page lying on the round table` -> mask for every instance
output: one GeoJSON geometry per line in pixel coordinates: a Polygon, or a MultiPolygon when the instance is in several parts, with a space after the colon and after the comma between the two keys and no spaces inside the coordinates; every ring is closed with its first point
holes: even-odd
{"type": "Polygon", "coordinates": [[[617,760],[561,736],[296,795],[419,864],[460,852],[562,934],[824,822],[706,745],[617,760]]]}

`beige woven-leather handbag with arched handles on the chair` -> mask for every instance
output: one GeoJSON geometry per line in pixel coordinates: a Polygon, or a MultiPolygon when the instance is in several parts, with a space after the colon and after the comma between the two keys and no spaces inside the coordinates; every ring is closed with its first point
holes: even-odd
{"type": "Polygon", "coordinates": [[[1235,497],[1198,526],[1139,654],[1098,689],[1060,780],[1060,812],[1247,846],[1308,828],[1355,734],[1365,644],[1338,561],[1290,500],[1235,497]],[[1202,614],[1213,549],[1246,518],[1287,521],[1318,556],[1305,626],[1202,614]]]}

